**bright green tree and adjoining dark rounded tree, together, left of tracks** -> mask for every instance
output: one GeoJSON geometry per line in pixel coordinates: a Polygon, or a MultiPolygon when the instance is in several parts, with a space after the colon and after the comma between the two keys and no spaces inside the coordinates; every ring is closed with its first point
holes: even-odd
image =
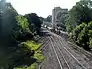
{"type": "Polygon", "coordinates": [[[36,35],[40,34],[42,21],[37,14],[18,15],[16,16],[16,20],[19,27],[18,34],[15,34],[17,40],[33,39],[36,35]]]}

